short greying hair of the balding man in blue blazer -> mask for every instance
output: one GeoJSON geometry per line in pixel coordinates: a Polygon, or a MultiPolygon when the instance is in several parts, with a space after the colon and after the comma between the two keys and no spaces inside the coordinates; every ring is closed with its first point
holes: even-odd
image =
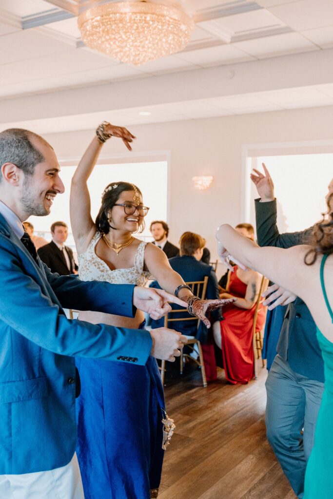
{"type": "MultiPolygon", "coordinates": [[[[8,128],[0,133],[0,166],[4,163],[13,163],[20,168],[25,175],[32,175],[38,163],[45,158],[30,139],[35,138],[51,147],[45,139],[36,133],[23,128],[8,128]]],[[[2,176],[0,176],[1,182],[2,176]]]]}

